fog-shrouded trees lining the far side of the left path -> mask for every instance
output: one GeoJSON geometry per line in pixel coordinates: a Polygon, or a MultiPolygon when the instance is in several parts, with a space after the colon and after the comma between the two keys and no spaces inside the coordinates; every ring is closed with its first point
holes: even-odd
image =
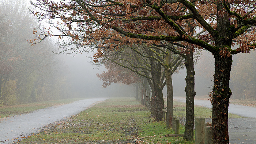
{"type": "Polygon", "coordinates": [[[31,46],[38,23],[26,1],[1,0],[0,5],[0,106],[67,97],[66,77],[46,39],[31,46]]]}

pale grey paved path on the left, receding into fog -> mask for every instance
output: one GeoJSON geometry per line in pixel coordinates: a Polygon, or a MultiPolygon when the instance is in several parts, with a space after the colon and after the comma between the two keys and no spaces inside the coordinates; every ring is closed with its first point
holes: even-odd
{"type": "Polygon", "coordinates": [[[39,109],[28,114],[1,118],[0,144],[10,144],[13,141],[22,139],[22,137],[31,135],[31,133],[40,132],[40,128],[44,125],[75,115],[91,107],[96,102],[106,99],[79,100],[70,104],[39,109]]]}

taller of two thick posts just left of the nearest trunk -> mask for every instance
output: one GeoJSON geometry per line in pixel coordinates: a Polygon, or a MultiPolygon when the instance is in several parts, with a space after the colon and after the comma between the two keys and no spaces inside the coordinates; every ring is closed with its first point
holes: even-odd
{"type": "Polygon", "coordinates": [[[204,144],[204,121],[203,117],[195,118],[196,144],[204,144]]]}

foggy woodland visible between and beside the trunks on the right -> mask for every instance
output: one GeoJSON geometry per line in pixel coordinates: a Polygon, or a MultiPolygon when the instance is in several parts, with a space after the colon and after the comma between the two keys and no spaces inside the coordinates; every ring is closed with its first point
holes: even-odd
{"type": "MultiPolygon", "coordinates": [[[[236,48],[236,47],[235,47],[236,48]]],[[[255,99],[256,52],[238,53],[233,55],[230,72],[231,99],[255,99]]],[[[208,97],[212,90],[214,75],[214,57],[207,51],[202,51],[200,59],[195,63],[195,97],[208,97]]],[[[174,96],[186,96],[186,69],[175,73],[173,79],[174,96]]]]}

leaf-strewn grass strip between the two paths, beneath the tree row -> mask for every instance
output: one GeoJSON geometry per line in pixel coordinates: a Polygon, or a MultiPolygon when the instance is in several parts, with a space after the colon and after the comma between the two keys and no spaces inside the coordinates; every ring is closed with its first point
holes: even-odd
{"type": "MultiPolygon", "coordinates": [[[[184,119],[185,104],[174,102],[174,115],[184,119]]],[[[211,109],[195,107],[196,116],[211,115],[211,109]]],[[[85,111],[45,126],[18,144],[193,144],[182,137],[165,137],[173,133],[161,122],[154,122],[150,112],[131,97],[111,98],[85,111]]],[[[184,126],[180,125],[180,133],[184,126]]]]}

